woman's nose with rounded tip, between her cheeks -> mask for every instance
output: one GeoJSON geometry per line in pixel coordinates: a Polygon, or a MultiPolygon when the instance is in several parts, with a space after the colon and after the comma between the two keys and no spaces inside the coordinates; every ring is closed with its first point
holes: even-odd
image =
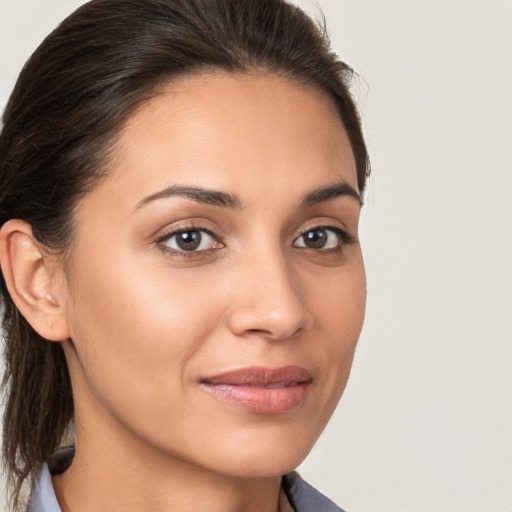
{"type": "Polygon", "coordinates": [[[283,257],[251,258],[236,281],[235,300],[228,313],[235,335],[284,340],[311,328],[313,317],[299,279],[283,257]]]}

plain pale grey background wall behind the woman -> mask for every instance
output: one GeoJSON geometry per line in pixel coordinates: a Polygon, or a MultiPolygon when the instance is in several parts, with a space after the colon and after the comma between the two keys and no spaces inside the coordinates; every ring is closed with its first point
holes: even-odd
{"type": "MultiPolygon", "coordinates": [[[[81,3],[0,0],[0,105],[81,3]]],[[[350,512],[510,512],[512,2],[297,3],[361,75],[374,169],[366,326],[300,471],[350,512]]]]}

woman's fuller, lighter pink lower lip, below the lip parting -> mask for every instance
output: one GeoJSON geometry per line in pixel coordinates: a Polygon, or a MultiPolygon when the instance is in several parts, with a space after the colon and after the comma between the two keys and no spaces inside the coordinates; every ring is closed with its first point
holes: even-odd
{"type": "Polygon", "coordinates": [[[306,398],[310,382],[284,388],[238,386],[203,383],[215,397],[258,414],[280,414],[300,405],[306,398]]]}

